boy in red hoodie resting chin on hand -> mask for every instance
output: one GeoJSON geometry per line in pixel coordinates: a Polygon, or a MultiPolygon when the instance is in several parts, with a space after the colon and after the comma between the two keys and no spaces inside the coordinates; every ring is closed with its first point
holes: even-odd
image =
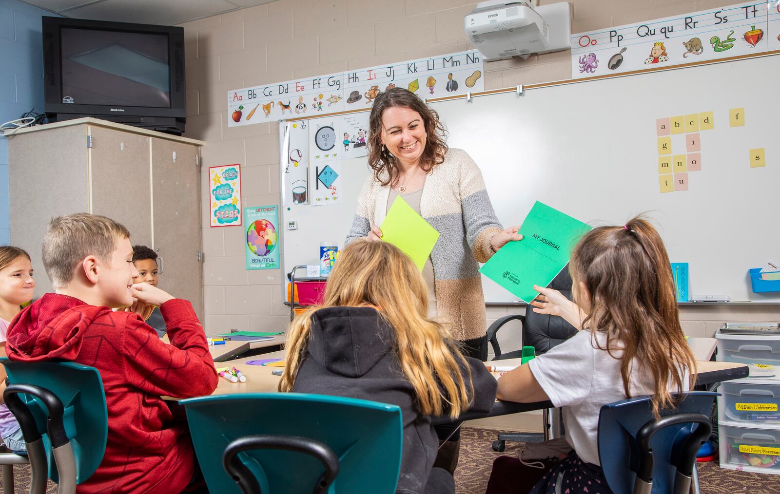
{"type": "Polygon", "coordinates": [[[78,492],[178,493],[193,478],[193,446],[161,396],[211,394],[218,376],[190,302],[133,284],[138,272],[129,236],[107,217],[75,213],[51,220],[42,251],[55,293],[16,316],[7,351],[11,360],[66,360],[100,371],[108,443],[78,492]],[[135,312],[112,311],[133,299],[160,307],[171,344],[135,312]]]}

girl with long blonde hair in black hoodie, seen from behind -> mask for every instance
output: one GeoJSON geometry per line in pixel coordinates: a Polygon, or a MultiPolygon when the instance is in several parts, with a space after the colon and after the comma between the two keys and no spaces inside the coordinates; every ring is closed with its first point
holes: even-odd
{"type": "Polygon", "coordinates": [[[432,468],[431,417],[490,411],[495,379],[463,356],[449,330],[427,318],[420,270],[395,246],[356,240],[339,256],[322,305],[291,324],[280,391],[337,394],[397,404],[403,415],[396,492],[454,492],[432,468]]]}

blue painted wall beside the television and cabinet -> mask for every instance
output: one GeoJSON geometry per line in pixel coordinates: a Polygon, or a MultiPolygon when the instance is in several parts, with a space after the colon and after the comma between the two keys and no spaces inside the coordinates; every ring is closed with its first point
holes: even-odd
{"type": "MultiPolygon", "coordinates": [[[[16,0],[0,0],[0,123],[44,111],[41,17],[57,16],[16,0]]],[[[10,242],[8,139],[0,136],[0,245],[10,242]]]]}

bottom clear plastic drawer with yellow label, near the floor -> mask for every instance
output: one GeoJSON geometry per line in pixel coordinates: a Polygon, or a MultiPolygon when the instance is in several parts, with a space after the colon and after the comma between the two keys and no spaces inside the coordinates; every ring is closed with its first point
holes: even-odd
{"type": "Polygon", "coordinates": [[[720,423],[721,468],[780,475],[780,429],[720,423]]]}

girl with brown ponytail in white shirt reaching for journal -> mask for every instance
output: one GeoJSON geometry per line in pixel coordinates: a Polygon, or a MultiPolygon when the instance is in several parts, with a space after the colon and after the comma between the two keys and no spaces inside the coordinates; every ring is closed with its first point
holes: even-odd
{"type": "MultiPolygon", "coordinates": [[[[601,406],[651,395],[658,418],[660,410],[675,407],[672,393],[690,390],[696,372],[679,323],[668,255],[648,221],[636,217],[626,225],[594,228],[574,248],[569,270],[574,302],[556,290],[534,287],[541,295],[531,305],[534,312],[562,316],[581,331],[498,379],[499,399],[551,400],[563,408],[573,452],[531,489],[534,494],[555,492],[555,482],[565,482],[561,490],[570,494],[610,492],[597,450],[601,406]]],[[[527,477],[533,470],[506,458],[495,461],[491,477],[527,477]]],[[[488,492],[504,491],[488,485],[488,492]]]]}

